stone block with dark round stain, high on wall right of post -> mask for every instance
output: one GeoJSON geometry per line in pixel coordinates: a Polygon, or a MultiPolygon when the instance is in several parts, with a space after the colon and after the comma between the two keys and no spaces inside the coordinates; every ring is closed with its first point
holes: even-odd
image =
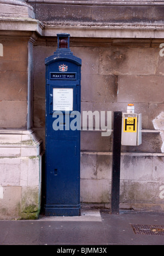
{"type": "Polygon", "coordinates": [[[153,75],[156,73],[154,48],[101,48],[99,74],[153,75]]]}

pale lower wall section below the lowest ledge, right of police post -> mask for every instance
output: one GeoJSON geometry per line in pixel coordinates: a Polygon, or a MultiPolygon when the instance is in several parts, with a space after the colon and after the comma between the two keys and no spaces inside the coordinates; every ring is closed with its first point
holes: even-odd
{"type": "MultiPolygon", "coordinates": [[[[163,211],[163,154],[122,153],[120,208],[163,211]]],[[[110,208],[112,153],[81,153],[81,202],[110,208]]]]}

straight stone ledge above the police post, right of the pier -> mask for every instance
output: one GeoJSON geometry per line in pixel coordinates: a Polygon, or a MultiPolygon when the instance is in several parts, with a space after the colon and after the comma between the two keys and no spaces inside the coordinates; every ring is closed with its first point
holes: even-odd
{"type": "Polygon", "coordinates": [[[70,33],[71,37],[91,38],[164,38],[162,26],[67,26],[44,24],[42,36],[51,37],[57,33],[70,33]]]}

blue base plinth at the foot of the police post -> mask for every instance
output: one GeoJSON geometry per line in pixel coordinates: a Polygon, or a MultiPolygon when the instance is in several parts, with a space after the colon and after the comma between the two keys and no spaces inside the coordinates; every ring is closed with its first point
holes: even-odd
{"type": "Polygon", "coordinates": [[[45,216],[80,216],[80,205],[45,205],[45,216]]]}

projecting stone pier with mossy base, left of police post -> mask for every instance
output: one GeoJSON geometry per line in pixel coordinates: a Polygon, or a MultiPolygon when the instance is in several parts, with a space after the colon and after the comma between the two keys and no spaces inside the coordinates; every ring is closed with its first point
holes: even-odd
{"type": "Polygon", "coordinates": [[[0,219],[33,219],[40,212],[42,141],[30,130],[30,24],[37,25],[31,18],[33,9],[24,1],[0,1],[0,219]]]}

